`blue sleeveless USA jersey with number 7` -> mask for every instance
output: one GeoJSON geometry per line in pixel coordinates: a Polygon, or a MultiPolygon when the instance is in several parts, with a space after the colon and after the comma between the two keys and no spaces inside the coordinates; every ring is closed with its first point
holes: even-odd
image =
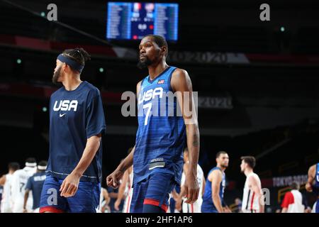
{"type": "Polygon", "coordinates": [[[177,114],[177,99],[168,97],[168,92],[173,94],[171,77],[175,69],[167,67],[155,79],[147,76],[140,84],[134,183],[151,172],[164,172],[174,175],[173,179],[180,184],[186,129],[183,117],[177,114]]]}

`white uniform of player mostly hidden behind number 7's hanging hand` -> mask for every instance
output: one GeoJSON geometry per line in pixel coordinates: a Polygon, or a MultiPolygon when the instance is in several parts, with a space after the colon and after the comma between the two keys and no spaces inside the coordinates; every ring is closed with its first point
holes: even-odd
{"type": "MultiPolygon", "coordinates": [[[[184,172],[181,175],[181,187],[183,187],[185,183],[185,174],[184,172]]],[[[186,198],[183,199],[183,205],[181,207],[183,213],[201,213],[201,204],[203,203],[203,181],[204,181],[203,170],[201,166],[197,164],[197,182],[199,187],[198,199],[194,202],[194,204],[187,204],[186,198]]]]}

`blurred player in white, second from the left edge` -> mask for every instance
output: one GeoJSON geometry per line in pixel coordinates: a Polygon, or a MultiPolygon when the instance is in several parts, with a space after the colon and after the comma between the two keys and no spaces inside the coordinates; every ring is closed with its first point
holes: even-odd
{"type": "MultiPolygon", "coordinates": [[[[12,201],[12,212],[13,213],[22,213],[23,212],[23,203],[24,196],[26,192],[26,183],[28,179],[35,174],[37,171],[37,163],[35,158],[29,157],[26,160],[26,167],[22,170],[17,170],[13,173],[11,179],[11,201],[12,201]]],[[[33,196],[30,192],[28,196],[28,202],[26,204],[26,209],[32,211],[33,207],[33,196]]]]}

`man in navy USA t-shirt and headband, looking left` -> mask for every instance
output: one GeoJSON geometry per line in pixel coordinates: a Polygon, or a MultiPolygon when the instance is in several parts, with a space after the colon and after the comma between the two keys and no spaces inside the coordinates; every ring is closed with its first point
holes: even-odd
{"type": "Polygon", "coordinates": [[[50,98],[50,156],[40,213],[98,211],[106,124],[99,89],[80,79],[89,59],[82,48],[57,57],[52,81],[63,86],[50,98]]]}

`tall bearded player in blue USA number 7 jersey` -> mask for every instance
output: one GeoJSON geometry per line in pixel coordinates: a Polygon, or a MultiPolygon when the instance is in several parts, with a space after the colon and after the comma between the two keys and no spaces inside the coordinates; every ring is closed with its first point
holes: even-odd
{"type": "Polygon", "coordinates": [[[125,170],[134,165],[130,212],[164,213],[169,193],[181,182],[182,153],[186,143],[189,148],[189,170],[184,183],[186,202],[193,204],[198,198],[198,123],[191,79],[185,70],[167,65],[166,40],[159,35],[147,35],[142,38],[139,48],[138,66],[147,67],[149,75],[137,85],[139,115],[135,147],[106,181],[108,186],[118,187],[125,170]],[[181,96],[167,101],[165,94],[169,92],[181,96]],[[162,103],[174,113],[178,105],[181,106],[180,116],[176,113],[157,116],[162,103]],[[191,114],[186,114],[188,108],[191,114]]]}

